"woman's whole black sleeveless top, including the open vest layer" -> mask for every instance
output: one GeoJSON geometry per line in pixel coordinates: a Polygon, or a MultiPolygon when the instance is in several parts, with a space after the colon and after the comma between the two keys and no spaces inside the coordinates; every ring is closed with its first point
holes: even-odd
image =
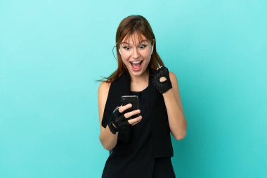
{"type": "Polygon", "coordinates": [[[105,105],[102,126],[106,127],[112,110],[121,105],[124,95],[137,95],[141,122],[118,133],[115,148],[105,163],[103,177],[152,177],[155,159],[173,156],[167,109],[162,94],[152,84],[143,91],[130,91],[129,72],[112,82],[105,105]]]}

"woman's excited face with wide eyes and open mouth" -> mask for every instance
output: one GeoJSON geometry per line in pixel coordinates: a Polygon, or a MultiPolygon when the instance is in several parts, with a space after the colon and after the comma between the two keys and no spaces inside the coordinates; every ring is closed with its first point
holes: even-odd
{"type": "Polygon", "coordinates": [[[126,42],[126,37],[122,40],[119,50],[122,61],[133,76],[141,76],[148,67],[152,53],[152,44],[141,34],[141,41],[138,40],[138,34],[134,33],[126,42]]]}

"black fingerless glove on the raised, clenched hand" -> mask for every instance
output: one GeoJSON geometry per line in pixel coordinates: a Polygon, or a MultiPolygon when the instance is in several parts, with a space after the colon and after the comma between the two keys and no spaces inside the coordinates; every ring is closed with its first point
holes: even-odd
{"type": "Polygon", "coordinates": [[[168,68],[162,66],[157,71],[155,71],[155,76],[152,78],[152,84],[157,88],[160,93],[164,93],[172,88],[171,80],[169,78],[169,70],[168,68]],[[166,77],[167,80],[164,82],[160,82],[159,79],[161,77],[166,77]]]}

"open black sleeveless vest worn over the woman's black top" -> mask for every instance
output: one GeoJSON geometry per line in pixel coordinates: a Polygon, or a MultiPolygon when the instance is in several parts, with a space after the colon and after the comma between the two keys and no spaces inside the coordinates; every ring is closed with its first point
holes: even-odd
{"type": "MultiPolygon", "coordinates": [[[[152,142],[152,157],[168,157],[174,156],[174,151],[171,144],[170,128],[167,115],[167,108],[164,103],[164,98],[159,91],[152,84],[152,77],[154,76],[155,70],[149,70],[149,84],[148,88],[141,91],[141,99],[139,100],[139,106],[144,103],[148,120],[147,126],[150,128],[151,142],[152,142]],[[144,101],[143,101],[144,100],[144,101]]],[[[122,105],[122,96],[131,94],[131,77],[129,72],[124,72],[117,80],[110,84],[110,90],[108,92],[108,98],[105,103],[105,109],[103,113],[102,126],[107,127],[110,122],[110,115],[112,111],[122,105]]],[[[142,115],[144,116],[144,115],[142,115]]],[[[144,118],[141,122],[144,122],[144,118]]],[[[141,127],[141,122],[133,127],[141,127]],[[138,126],[139,125],[139,126],[138,126]]],[[[131,136],[135,136],[135,129],[130,125],[123,131],[119,132],[117,139],[117,146],[113,148],[112,152],[124,146],[124,144],[130,144],[131,136]],[[131,133],[133,131],[133,133],[131,133]]],[[[142,131],[143,132],[143,131],[142,131]]],[[[142,134],[142,133],[141,133],[142,134]]],[[[125,151],[122,151],[122,155],[125,151]]]]}

